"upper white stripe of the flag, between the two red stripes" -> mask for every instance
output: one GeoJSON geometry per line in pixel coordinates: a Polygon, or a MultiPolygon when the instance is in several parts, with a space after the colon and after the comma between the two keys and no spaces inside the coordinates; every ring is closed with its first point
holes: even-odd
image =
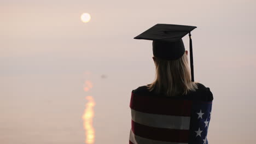
{"type": "Polygon", "coordinates": [[[133,109],[131,115],[134,122],[150,127],[189,130],[190,117],[158,115],[133,109]]]}

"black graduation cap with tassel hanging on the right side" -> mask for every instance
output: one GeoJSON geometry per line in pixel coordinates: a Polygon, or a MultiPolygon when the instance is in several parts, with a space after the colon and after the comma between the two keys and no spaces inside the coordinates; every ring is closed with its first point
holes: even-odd
{"type": "Polygon", "coordinates": [[[189,33],[191,81],[194,81],[193,50],[190,32],[195,28],[195,26],[158,23],[134,39],[153,40],[153,55],[155,57],[175,60],[184,55],[185,47],[182,38],[189,33]]]}

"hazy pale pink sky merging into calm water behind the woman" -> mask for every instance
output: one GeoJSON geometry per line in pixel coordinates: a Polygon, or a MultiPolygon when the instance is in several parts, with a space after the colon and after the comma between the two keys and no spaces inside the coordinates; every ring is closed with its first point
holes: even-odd
{"type": "MultiPolygon", "coordinates": [[[[254,143],[255,6],[252,0],[0,0],[0,143],[84,143],[87,95],[96,103],[95,143],[128,143],[131,91],[155,74],[152,41],[133,37],[156,23],[197,26],[195,81],[214,97],[209,143],[254,143]],[[83,23],[82,13],[91,21],[83,23]],[[83,91],[85,80],[90,92],[83,91]]],[[[189,50],[188,35],[183,41],[189,50]]]]}

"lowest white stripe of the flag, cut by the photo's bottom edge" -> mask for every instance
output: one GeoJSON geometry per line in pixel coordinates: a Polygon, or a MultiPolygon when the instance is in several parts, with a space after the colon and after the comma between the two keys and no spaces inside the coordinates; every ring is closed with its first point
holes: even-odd
{"type": "Polygon", "coordinates": [[[135,135],[132,130],[130,130],[129,140],[134,144],[188,144],[188,143],[180,143],[180,142],[150,140],[150,139],[146,139],[144,137],[135,135]]]}

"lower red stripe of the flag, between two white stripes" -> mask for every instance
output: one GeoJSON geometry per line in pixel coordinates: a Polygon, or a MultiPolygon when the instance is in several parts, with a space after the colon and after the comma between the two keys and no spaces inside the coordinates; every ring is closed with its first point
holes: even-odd
{"type": "Polygon", "coordinates": [[[189,130],[148,127],[134,121],[132,131],[137,136],[158,141],[188,142],[189,139],[189,130]]]}

